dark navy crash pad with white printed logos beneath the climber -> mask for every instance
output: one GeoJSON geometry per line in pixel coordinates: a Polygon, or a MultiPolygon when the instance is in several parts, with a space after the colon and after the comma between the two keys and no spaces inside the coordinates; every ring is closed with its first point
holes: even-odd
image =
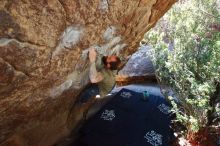
{"type": "Polygon", "coordinates": [[[73,146],[169,146],[170,105],[163,97],[120,90],[80,130],[73,146]],[[145,100],[144,100],[145,99],[145,100]]]}

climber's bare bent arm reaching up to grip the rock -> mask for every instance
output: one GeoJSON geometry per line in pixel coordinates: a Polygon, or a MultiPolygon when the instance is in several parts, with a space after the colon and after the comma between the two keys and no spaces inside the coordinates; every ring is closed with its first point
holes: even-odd
{"type": "Polygon", "coordinates": [[[98,83],[103,80],[103,75],[102,73],[98,72],[96,69],[96,57],[97,53],[95,49],[90,49],[89,50],[89,60],[90,60],[90,70],[89,70],[89,78],[92,83],[98,83]]]}

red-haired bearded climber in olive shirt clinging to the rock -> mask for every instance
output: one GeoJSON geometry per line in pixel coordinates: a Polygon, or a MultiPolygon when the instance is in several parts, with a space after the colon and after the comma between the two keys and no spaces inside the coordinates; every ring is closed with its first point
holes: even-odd
{"type": "Polygon", "coordinates": [[[101,97],[107,95],[114,87],[117,70],[121,67],[118,56],[101,56],[94,48],[89,50],[89,61],[89,78],[92,84],[81,95],[82,103],[98,94],[101,97]]]}

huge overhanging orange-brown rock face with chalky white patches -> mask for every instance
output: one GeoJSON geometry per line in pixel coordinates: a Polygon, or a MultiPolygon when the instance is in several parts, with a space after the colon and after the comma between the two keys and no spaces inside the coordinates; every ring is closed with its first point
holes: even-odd
{"type": "Polygon", "coordinates": [[[174,2],[0,0],[0,145],[49,146],[68,135],[82,118],[72,106],[88,84],[74,82],[87,48],[132,54],[174,2]]]}

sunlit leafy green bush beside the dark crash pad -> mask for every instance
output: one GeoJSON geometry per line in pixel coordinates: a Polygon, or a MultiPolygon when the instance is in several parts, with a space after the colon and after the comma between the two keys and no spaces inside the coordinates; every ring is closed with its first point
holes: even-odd
{"type": "Polygon", "coordinates": [[[220,90],[217,6],[216,0],[179,1],[145,36],[155,48],[152,59],[157,76],[180,101],[177,105],[169,97],[177,120],[193,132],[219,114],[220,97],[215,94],[220,90]]]}

